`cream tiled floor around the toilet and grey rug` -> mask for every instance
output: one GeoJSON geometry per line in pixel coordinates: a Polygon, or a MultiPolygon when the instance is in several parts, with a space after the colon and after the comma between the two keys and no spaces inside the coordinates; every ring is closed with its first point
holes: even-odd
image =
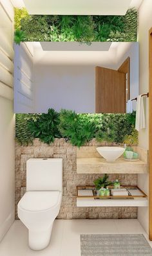
{"type": "MultiPolygon", "coordinates": [[[[148,240],[138,220],[55,220],[48,248],[32,251],[28,247],[28,230],[15,220],[1,241],[0,256],[80,256],[80,235],[93,233],[142,233],[148,240]]],[[[152,246],[152,242],[149,244],[152,246]]]]}

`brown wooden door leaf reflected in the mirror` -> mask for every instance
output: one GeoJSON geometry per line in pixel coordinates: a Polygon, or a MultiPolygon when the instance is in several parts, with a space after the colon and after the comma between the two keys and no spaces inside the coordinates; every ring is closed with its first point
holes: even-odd
{"type": "Polygon", "coordinates": [[[96,67],[95,112],[126,113],[126,74],[96,67]]]}

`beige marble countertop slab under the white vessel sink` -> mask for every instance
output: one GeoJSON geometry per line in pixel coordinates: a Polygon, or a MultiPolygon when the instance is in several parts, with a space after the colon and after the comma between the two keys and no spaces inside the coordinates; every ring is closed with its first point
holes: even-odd
{"type": "Polygon", "coordinates": [[[78,174],[144,174],[148,172],[146,162],[126,161],[119,157],[115,162],[107,162],[102,157],[97,158],[77,158],[78,174]]]}

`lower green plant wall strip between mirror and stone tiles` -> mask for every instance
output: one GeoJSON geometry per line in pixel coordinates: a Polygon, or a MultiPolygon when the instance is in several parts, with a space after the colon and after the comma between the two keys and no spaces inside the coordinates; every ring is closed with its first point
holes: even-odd
{"type": "Polygon", "coordinates": [[[43,114],[16,114],[15,137],[21,145],[39,138],[48,145],[55,138],[64,137],[73,146],[97,141],[138,143],[135,113],[132,114],[77,114],[71,110],[57,113],[50,109],[43,114]]]}

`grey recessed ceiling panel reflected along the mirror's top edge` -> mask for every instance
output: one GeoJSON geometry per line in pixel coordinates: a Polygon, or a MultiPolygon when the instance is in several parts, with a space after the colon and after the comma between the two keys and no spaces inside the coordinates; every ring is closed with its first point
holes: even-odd
{"type": "Polygon", "coordinates": [[[111,42],[93,42],[91,45],[77,41],[41,41],[43,51],[109,51],[111,42]]]}

